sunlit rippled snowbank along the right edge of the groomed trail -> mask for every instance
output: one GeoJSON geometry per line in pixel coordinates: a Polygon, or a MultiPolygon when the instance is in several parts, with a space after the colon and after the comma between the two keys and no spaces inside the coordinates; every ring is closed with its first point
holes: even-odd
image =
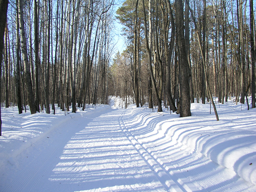
{"type": "Polygon", "coordinates": [[[180,143],[189,153],[201,153],[256,185],[256,108],[247,111],[247,105],[235,105],[231,100],[216,108],[220,121],[216,121],[212,108],[210,114],[209,104],[200,103],[191,104],[191,117],[180,118],[165,110],[149,118],[156,112],[151,110],[146,116],[135,107],[131,115],[153,126],[151,131],[171,137],[170,146],[180,143]]]}

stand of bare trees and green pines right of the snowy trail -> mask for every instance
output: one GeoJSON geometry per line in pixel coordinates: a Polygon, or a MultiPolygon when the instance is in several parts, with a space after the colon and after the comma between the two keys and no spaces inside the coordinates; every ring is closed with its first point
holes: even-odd
{"type": "MultiPolygon", "coordinates": [[[[252,2],[250,4],[253,8],[252,2]]],[[[145,61],[148,63],[148,104],[151,102],[152,92],[156,105],[160,105],[157,99],[159,97],[164,106],[168,102],[172,111],[176,111],[177,107],[177,112],[180,113],[184,108],[189,108],[194,98],[202,103],[206,99],[211,100],[214,105],[214,96],[221,103],[227,102],[228,97],[236,96],[236,102],[244,103],[244,97],[250,92],[254,107],[255,19],[253,10],[248,14],[249,7],[249,2],[233,0],[186,0],[185,3],[179,0],[125,1],[116,12],[117,19],[124,25],[124,36],[127,37],[128,48],[131,50],[131,65],[135,65],[134,57],[140,58],[139,61],[136,60],[139,64],[145,61]],[[141,5],[143,16],[138,12],[141,5]],[[143,22],[136,25],[139,20],[143,22]],[[133,33],[136,26],[137,33],[133,33]],[[140,51],[134,52],[138,38],[141,43],[140,51]],[[186,64],[183,66],[184,63],[186,64]],[[182,66],[186,66],[186,69],[182,66]],[[184,94],[186,103],[183,103],[184,94]],[[175,98],[176,106],[172,97],[175,98]]],[[[135,74],[132,78],[134,76],[135,74]]],[[[140,88],[140,84],[133,83],[133,86],[135,94],[136,86],[140,88]]],[[[213,108],[218,119],[215,105],[213,108]]],[[[187,111],[184,116],[189,115],[190,112],[187,111]]]]}

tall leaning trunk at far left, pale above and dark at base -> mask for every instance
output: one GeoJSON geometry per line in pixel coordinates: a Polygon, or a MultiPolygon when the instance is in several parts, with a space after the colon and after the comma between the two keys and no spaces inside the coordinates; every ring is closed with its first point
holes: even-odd
{"type": "Polygon", "coordinates": [[[24,70],[25,70],[25,81],[28,91],[28,103],[30,107],[31,114],[36,113],[36,104],[35,97],[32,87],[30,67],[28,63],[28,51],[27,51],[27,38],[25,36],[25,26],[23,19],[23,0],[18,0],[19,3],[19,23],[20,23],[20,33],[21,33],[21,50],[24,62],[24,70]]]}

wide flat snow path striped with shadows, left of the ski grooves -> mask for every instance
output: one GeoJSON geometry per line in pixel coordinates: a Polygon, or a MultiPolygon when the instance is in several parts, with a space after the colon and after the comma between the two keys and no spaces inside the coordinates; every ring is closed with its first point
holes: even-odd
{"type": "Polygon", "coordinates": [[[164,191],[121,131],[121,114],[73,117],[13,160],[0,191],[164,191]]]}

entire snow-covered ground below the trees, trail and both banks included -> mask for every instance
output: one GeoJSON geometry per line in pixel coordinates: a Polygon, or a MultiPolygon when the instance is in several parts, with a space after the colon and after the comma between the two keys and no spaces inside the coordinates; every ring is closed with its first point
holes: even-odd
{"type": "Polygon", "coordinates": [[[112,97],[77,113],[2,108],[0,191],[256,191],[256,109],[191,104],[191,117],[112,97]]]}

